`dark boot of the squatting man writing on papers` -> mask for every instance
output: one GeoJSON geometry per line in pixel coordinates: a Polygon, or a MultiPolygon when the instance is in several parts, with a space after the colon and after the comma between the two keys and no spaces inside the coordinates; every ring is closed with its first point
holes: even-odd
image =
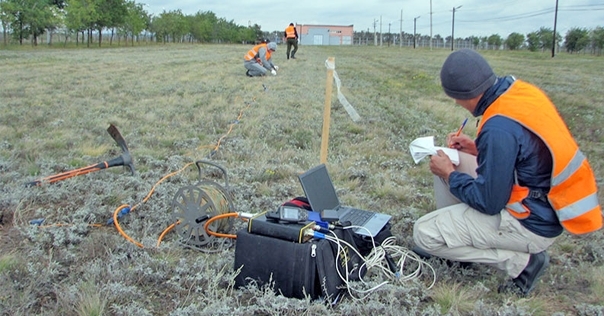
{"type": "Polygon", "coordinates": [[[537,285],[539,278],[549,267],[549,255],[547,252],[532,253],[529,263],[520,275],[510,282],[499,287],[498,292],[515,292],[519,296],[529,295],[537,285]]]}

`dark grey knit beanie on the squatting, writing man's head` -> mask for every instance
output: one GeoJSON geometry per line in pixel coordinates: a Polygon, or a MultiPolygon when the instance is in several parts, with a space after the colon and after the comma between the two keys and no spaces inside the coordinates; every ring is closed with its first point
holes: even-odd
{"type": "Polygon", "coordinates": [[[497,77],[487,61],[472,49],[460,49],[447,57],[440,82],[453,99],[468,100],[493,86],[497,77]]]}

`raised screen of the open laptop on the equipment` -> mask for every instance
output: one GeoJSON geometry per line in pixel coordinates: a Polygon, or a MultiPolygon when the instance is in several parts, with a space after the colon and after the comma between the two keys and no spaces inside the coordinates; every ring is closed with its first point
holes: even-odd
{"type": "Polygon", "coordinates": [[[336,189],[331,182],[327,167],[320,164],[299,177],[302,189],[310,203],[310,207],[315,212],[322,210],[335,209],[340,205],[336,189]]]}

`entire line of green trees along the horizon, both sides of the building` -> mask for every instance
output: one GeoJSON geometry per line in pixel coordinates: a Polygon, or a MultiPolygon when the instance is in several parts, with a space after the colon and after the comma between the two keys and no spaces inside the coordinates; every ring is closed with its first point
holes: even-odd
{"type": "MultiPolygon", "coordinates": [[[[52,45],[56,33],[64,36],[65,44],[68,40],[75,40],[76,45],[86,41],[88,46],[93,38],[101,46],[103,34],[107,33],[110,44],[116,38],[118,42],[124,39],[126,44],[130,40],[132,45],[140,42],[141,37],[145,41],[163,43],[254,43],[271,36],[279,39],[282,34],[280,31],[262,31],[257,24],[237,25],[232,20],[217,17],[211,11],[185,15],[181,10],[164,10],[158,15],[149,14],[145,4],[134,0],[0,0],[0,23],[5,45],[8,40],[19,44],[28,40],[32,45],[37,45],[42,35],[46,35],[48,44],[52,45]]],[[[553,47],[553,34],[546,27],[526,35],[514,32],[505,39],[498,34],[452,39],[451,36],[443,38],[440,35],[430,38],[419,34],[361,31],[354,33],[354,43],[378,43],[375,37],[379,35],[380,45],[406,41],[413,42],[414,47],[416,42],[420,42],[439,47],[455,45],[475,49],[543,51],[553,47]]],[[[562,47],[569,53],[588,51],[599,55],[604,48],[604,28],[571,28],[564,37],[556,32],[555,41],[556,47],[562,47]]]]}

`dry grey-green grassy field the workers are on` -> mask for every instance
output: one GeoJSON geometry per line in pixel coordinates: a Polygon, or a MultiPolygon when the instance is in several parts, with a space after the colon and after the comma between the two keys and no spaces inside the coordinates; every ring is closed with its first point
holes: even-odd
{"type": "MultiPolygon", "coordinates": [[[[201,159],[227,170],[237,211],[271,210],[303,194],[297,175],[319,163],[328,57],[361,116],[350,119],[334,86],[327,165],[343,202],[391,214],[402,247],[411,246],[413,222],[435,208],[432,175],[425,162],[413,162],[408,145],[430,135],[442,143],[468,116],[440,88],[449,50],[301,46],[298,59],[285,60],[280,46],[279,74],[248,78],[248,49],[0,50],[0,315],[604,314],[601,231],[559,237],[528,298],[498,294],[505,276],[495,269],[431,260],[432,288],[425,279],[392,282],[336,306],[270,288],[236,289],[229,243],[206,253],[184,247],[175,230],[162,235],[175,221],[179,189],[201,180],[191,165],[201,159]],[[115,167],[24,186],[120,156],[109,124],[126,139],[135,176],[115,167]],[[135,207],[119,220],[120,234],[104,224],[124,204],[135,207]],[[41,226],[30,224],[42,218],[41,226]]],[[[482,53],[499,75],[548,93],[601,188],[602,58],[482,53]]],[[[237,220],[231,232],[243,225],[237,220]]]]}

